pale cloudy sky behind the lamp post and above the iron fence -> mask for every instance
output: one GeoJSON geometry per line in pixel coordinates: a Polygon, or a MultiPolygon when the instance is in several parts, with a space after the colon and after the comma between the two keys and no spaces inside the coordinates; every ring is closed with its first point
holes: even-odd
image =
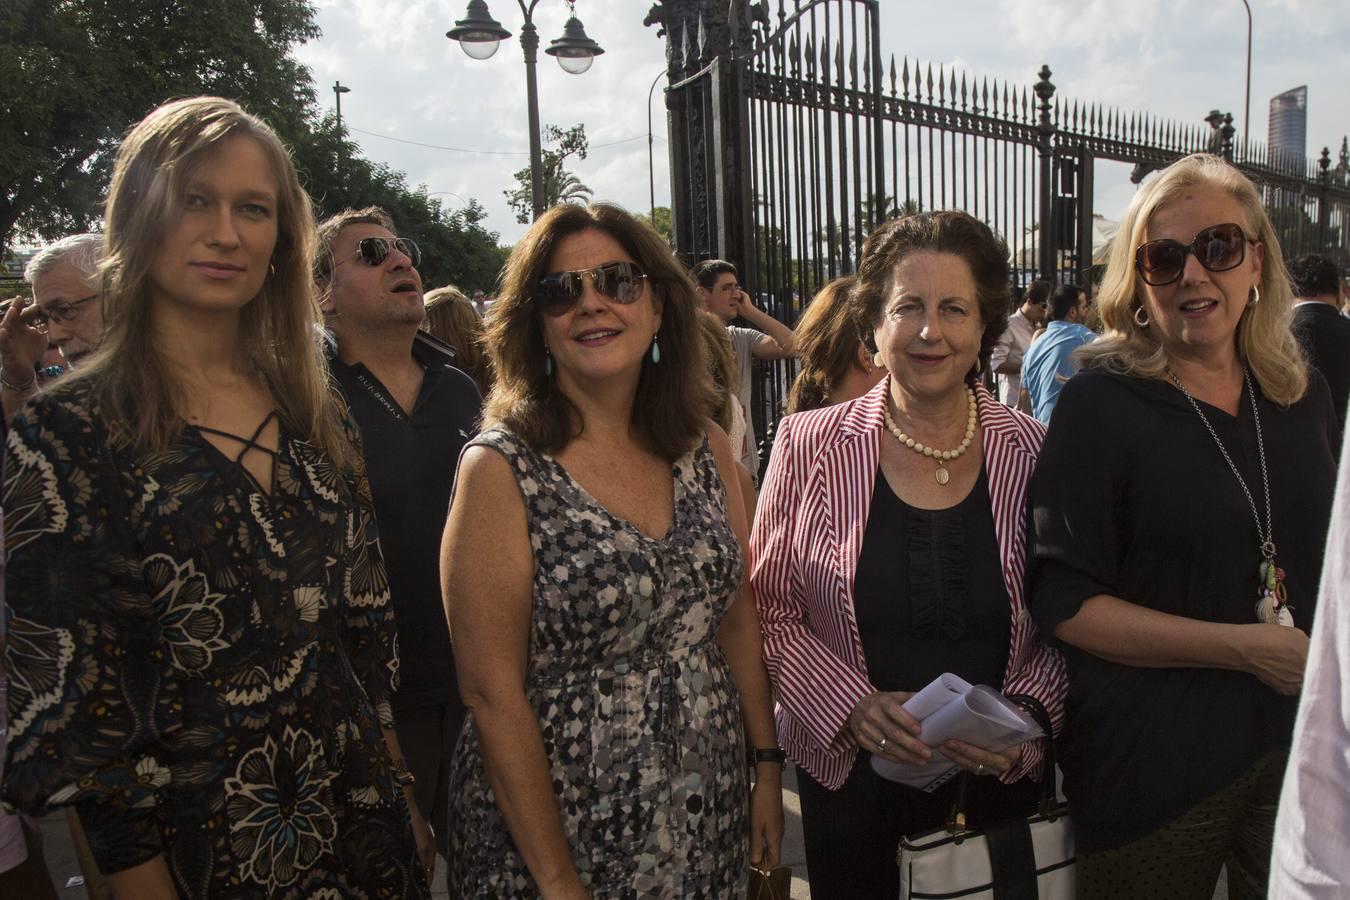
{"type": "MultiPolygon", "coordinates": [[[[343,121],[366,157],[404,170],[450,206],[478,200],[489,228],[502,243],[514,242],[525,227],[502,192],[529,162],[518,40],[502,42],[487,61],[466,57],[444,34],[467,0],[316,5],[323,36],[297,55],[313,69],[323,103],[332,104],[335,80],[351,88],[343,121]]],[[[539,62],[541,123],[586,125],[591,154],[572,170],[597,200],[637,212],[648,206],[648,89],[666,69],[664,39],[643,27],[649,7],[651,0],[579,0],[578,18],[605,54],[583,76],[564,73],[543,53],[539,62]]],[[[1308,152],[1330,146],[1335,157],[1350,132],[1346,0],[1251,0],[1251,7],[1253,138],[1265,140],[1269,99],[1305,84],[1308,152]]],[[[489,8],[518,35],[514,0],[489,0],[489,8]]],[[[541,0],[535,12],[541,47],[562,34],[566,16],[563,0],[541,0]]],[[[887,57],[1021,84],[1034,82],[1049,63],[1060,92],[1073,99],[1189,123],[1220,108],[1242,127],[1242,0],[883,0],[882,47],[887,57]]],[[[670,202],[660,92],[652,101],[659,206],[670,202]]],[[[1096,212],[1119,217],[1134,190],[1127,175],[1127,166],[1098,163],[1096,212]]]]}

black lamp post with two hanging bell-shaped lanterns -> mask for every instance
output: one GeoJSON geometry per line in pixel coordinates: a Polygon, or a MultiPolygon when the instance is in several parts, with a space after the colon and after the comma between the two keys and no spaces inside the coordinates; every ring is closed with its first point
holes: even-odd
{"type": "MultiPolygon", "coordinates": [[[[539,0],[531,0],[529,5],[525,0],[516,3],[525,18],[525,24],[520,28],[520,49],[525,55],[525,93],[529,105],[529,194],[535,219],[539,219],[544,213],[544,159],[539,146],[539,84],[535,78],[535,61],[539,53],[535,7],[539,5],[539,0]]],[[[590,69],[595,57],[605,50],[586,36],[572,0],[567,1],[567,9],[571,15],[563,26],[563,36],[549,43],[544,53],[556,58],[563,72],[579,76],[590,69]]],[[[458,40],[468,58],[487,59],[497,53],[498,45],[510,36],[510,31],[493,19],[486,0],[470,0],[468,12],[455,22],[455,27],[447,31],[446,36],[458,40]]]]}

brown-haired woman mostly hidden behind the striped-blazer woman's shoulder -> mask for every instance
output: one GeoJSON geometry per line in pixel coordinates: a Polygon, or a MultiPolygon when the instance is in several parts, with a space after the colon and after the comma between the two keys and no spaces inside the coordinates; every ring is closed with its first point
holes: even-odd
{"type": "Polygon", "coordinates": [[[787,398],[788,414],[855,399],[886,378],[886,367],[872,362],[849,312],[848,291],[855,281],[844,275],[828,282],[796,322],[802,368],[787,398]]]}

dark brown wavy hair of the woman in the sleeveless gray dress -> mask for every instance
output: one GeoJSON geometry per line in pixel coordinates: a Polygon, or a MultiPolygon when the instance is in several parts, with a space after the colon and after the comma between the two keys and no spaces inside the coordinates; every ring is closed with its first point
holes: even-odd
{"type": "Polygon", "coordinates": [[[548,273],[558,242],[591,228],[613,237],[643,267],[647,290],[662,300],[662,362],[643,360],[633,428],[651,452],[674,463],[703,436],[714,405],[698,324],[702,304],[662,236],[613,204],[554,206],[512,250],[483,335],[497,372],[485,426],[505,425],[544,453],[559,452],[580,434],[576,407],[544,371],[543,313],[535,304],[535,289],[548,273]]]}

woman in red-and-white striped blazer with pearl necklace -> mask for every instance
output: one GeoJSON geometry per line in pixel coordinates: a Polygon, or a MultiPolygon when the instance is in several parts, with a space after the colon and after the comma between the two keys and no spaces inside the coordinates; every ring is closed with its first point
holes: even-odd
{"type": "MultiPolygon", "coordinates": [[[[868,237],[857,278],[853,317],[890,376],[783,421],[751,541],[815,900],[896,896],[896,843],[946,819],[959,780],[925,793],[869,765],[930,758],[900,710],[914,691],[954,672],[1038,702],[1057,729],[1066,688],[1022,586],[1045,429],[979,385],[1007,321],[1004,243],[965,213],[919,213],[868,237]]],[[[972,826],[1034,804],[1040,742],[940,749],[971,773],[972,826]]]]}

